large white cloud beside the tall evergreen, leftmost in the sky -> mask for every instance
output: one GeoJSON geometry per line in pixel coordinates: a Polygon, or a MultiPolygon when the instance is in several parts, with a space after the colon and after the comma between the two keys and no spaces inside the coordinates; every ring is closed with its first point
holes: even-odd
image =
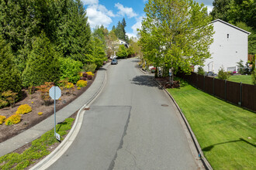
{"type": "Polygon", "coordinates": [[[108,27],[112,22],[112,19],[109,17],[113,15],[112,12],[108,11],[103,5],[89,5],[86,11],[91,28],[101,25],[108,27]]]}

